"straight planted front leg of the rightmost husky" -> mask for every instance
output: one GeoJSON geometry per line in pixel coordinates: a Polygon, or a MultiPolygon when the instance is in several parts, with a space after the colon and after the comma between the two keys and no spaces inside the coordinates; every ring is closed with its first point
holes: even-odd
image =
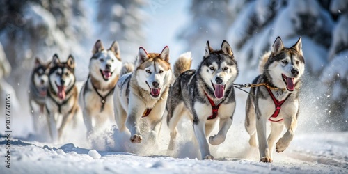
{"type": "Polygon", "coordinates": [[[260,116],[260,119],[256,121],[256,129],[258,131],[258,141],[259,141],[259,152],[260,152],[260,162],[270,163],[272,162],[271,157],[269,157],[269,147],[267,143],[267,129],[266,129],[267,119],[260,116]]]}

